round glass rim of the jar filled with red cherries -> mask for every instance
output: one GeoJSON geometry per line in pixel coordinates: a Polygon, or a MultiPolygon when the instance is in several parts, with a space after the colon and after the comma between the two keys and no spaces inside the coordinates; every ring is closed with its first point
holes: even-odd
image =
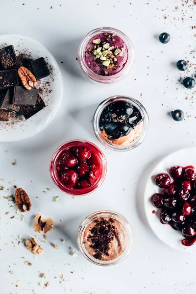
{"type": "Polygon", "coordinates": [[[98,146],[96,146],[95,144],[93,144],[90,141],[86,141],[86,140],[70,140],[67,141],[65,143],[63,143],[62,145],[60,145],[53,153],[51,160],[50,160],[50,166],[49,166],[49,172],[50,172],[50,176],[52,181],[54,182],[54,184],[64,193],[72,195],[72,196],[85,196],[88,194],[91,194],[93,192],[95,192],[103,183],[106,173],[107,173],[107,161],[105,158],[105,155],[103,154],[103,152],[98,148],[98,146]],[[74,143],[84,143],[86,145],[89,145],[90,147],[93,147],[97,152],[98,152],[98,157],[101,163],[101,175],[98,179],[97,182],[95,182],[95,184],[92,187],[88,187],[88,188],[84,188],[81,189],[81,192],[79,189],[69,189],[66,188],[63,184],[60,183],[59,179],[58,179],[58,175],[57,175],[57,171],[55,170],[55,164],[56,161],[60,155],[60,153],[66,148],[69,147],[69,145],[72,145],[74,143]],[[83,192],[82,192],[83,191],[83,192]]]}

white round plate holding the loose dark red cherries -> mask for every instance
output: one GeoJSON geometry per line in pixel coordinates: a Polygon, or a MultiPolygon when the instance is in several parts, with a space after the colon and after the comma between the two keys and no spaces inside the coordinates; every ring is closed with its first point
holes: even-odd
{"type": "Polygon", "coordinates": [[[144,197],[147,221],[155,235],[165,244],[177,250],[196,252],[196,245],[188,247],[181,244],[181,240],[184,239],[184,237],[180,231],[175,231],[170,225],[160,222],[161,209],[154,207],[151,202],[151,196],[154,193],[159,193],[161,190],[163,191],[163,189],[155,185],[155,175],[161,172],[170,174],[170,168],[174,165],[180,165],[182,167],[193,165],[196,167],[196,147],[181,149],[168,155],[162,159],[151,172],[147,180],[144,197]],[[153,210],[156,212],[155,214],[152,213],[153,210]]]}

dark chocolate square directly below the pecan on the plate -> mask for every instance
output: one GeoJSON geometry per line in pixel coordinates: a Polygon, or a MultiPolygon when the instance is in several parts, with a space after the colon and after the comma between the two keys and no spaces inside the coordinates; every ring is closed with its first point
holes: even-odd
{"type": "Polygon", "coordinates": [[[24,87],[16,86],[16,93],[13,100],[15,105],[35,105],[38,89],[26,90],[24,87]]]}

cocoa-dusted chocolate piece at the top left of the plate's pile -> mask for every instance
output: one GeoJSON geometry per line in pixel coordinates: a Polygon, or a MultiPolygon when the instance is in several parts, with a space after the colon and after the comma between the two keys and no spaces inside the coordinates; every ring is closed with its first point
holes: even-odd
{"type": "Polygon", "coordinates": [[[18,61],[13,45],[0,49],[0,69],[11,70],[18,67],[18,61]]]}

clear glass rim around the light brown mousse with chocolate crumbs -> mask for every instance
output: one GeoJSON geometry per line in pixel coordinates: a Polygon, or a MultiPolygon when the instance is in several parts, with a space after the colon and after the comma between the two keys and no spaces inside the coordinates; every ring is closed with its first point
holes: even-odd
{"type": "Polygon", "coordinates": [[[100,210],[89,214],[79,225],[78,232],[77,232],[77,244],[79,247],[79,251],[83,254],[83,256],[91,261],[92,263],[99,265],[99,266],[111,266],[121,262],[130,252],[132,244],[133,244],[133,231],[130,223],[118,212],[110,211],[110,210],[100,210]],[[84,245],[84,233],[87,226],[94,220],[98,218],[112,218],[113,220],[117,220],[121,223],[124,229],[125,238],[126,238],[126,246],[117,258],[112,260],[99,260],[93,257],[89,252],[86,250],[84,245]]]}

